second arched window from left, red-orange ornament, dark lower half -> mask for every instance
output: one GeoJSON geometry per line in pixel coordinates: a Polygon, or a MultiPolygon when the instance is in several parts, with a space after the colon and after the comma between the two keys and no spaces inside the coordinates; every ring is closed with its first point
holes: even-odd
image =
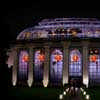
{"type": "Polygon", "coordinates": [[[43,81],[43,71],[44,71],[44,50],[38,49],[34,53],[34,81],[43,81]]]}

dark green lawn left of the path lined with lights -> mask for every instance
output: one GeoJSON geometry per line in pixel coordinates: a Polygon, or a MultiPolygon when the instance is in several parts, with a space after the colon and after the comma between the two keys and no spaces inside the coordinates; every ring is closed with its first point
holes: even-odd
{"type": "Polygon", "coordinates": [[[18,100],[32,99],[32,100],[58,100],[59,94],[63,92],[63,88],[8,88],[8,97],[16,98],[18,100]]]}

